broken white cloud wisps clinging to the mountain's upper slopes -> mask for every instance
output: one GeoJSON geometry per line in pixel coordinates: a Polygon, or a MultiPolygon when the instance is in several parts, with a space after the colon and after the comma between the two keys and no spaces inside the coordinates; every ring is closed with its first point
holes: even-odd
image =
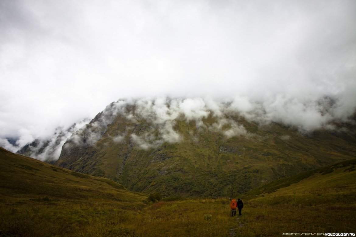
{"type": "MultiPolygon", "coordinates": [[[[103,138],[109,124],[115,122],[117,117],[133,124],[146,124],[146,126],[142,130],[135,130],[134,125],[129,125],[123,134],[115,134],[114,137],[110,135],[112,141],[119,143],[128,137],[132,146],[137,145],[143,150],[156,148],[164,142],[169,144],[182,142],[187,134],[180,134],[174,128],[177,122],[182,120],[188,123],[194,122],[198,130],[208,129],[220,133],[226,139],[236,136],[253,136],[242,124],[239,124],[239,119],[236,119],[239,117],[262,125],[272,122],[283,123],[302,133],[316,129],[336,130],[335,122],[347,121],[346,118],[340,120],[335,112],[338,108],[337,102],[330,98],[303,104],[296,99],[277,97],[276,101],[268,104],[267,108],[270,110],[267,110],[265,106],[266,104],[246,101],[246,98],[239,97],[236,97],[234,101],[167,97],[120,99],[107,106],[83,129],[73,133],[65,148],[73,145],[84,148],[95,146],[96,142],[103,138]],[[244,104],[249,103],[245,110],[238,109],[241,101],[244,104]],[[209,118],[210,122],[204,121],[209,118]]],[[[193,131],[190,133],[193,136],[193,131]]],[[[288,140],[290,137],[286,135],[282,136],[282,139],[288,140]]]]}

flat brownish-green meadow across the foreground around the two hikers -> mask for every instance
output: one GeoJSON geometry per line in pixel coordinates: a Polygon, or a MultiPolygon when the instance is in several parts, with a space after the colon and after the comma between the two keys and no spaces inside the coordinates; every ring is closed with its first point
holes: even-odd
{"type": "MultiPolygon", "coordinates": [[[[313,196],[318,194],[308,197],[313,196]]],[[[282,236],[355,233],[356,208],[345,203],[302,205],[293,195],[278,195],[245,201],[242,216],[234,217],[225,198],[159,201],[145,207],[102,200],[17,201],[1,205],[0,213],[1,236],[282,236]]]]}

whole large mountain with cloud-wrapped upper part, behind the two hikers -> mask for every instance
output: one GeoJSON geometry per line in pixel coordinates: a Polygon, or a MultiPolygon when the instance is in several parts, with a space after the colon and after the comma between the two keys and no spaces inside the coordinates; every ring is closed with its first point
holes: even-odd
{"type": "Polygon", "coordinates": [[[130,190],[218,197],[356,157],[355,117],[302,122],[202,99],[119,100],[73,133],[55,164],[130,190]]]}

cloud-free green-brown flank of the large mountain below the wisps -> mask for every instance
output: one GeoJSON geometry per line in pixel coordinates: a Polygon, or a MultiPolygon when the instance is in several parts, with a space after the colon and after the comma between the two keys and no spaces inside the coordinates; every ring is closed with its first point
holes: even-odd
{"type": "MultiPolygon", "coordinates": [[[[156,125],[118,116],[95,146],[62,150],[57,165],[109,177],[140,192],[219,197],[356,156],[354,134],[315,131],[303,136],[279,124],[258,126],[238,116],[227,118],[243,124],[249,135],[226,139],[182,118],[174,127],[182,142],[142,150],[130,135],[142,136],[156,125]],[[125,138],[115,143],[112,138],[118,134],[125,138]]],[[[203,122],[211,125],[216,120],[209,117],[203,122]]]]}

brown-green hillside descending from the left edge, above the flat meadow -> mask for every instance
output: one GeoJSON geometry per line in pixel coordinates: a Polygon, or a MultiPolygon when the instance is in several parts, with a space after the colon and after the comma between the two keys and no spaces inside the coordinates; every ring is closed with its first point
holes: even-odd
{"type": "Polygon", "coordinates": [[[77,173],[0,148],[0,200],[47,197],[61,201],[103,199],[139,203],[147,196],[102,177],[77,173]]]}

